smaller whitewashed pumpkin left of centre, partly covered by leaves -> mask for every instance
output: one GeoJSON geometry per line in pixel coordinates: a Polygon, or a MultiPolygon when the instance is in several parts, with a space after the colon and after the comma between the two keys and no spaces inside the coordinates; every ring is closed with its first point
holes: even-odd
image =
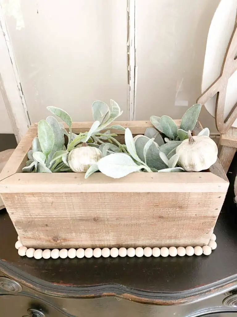
{"type": "Polygon", "coordinates": [[[74,172],[86,172],[103,157],[103,153],[94,146],[76,147],[68,154],[68,164],[74,172]]]}

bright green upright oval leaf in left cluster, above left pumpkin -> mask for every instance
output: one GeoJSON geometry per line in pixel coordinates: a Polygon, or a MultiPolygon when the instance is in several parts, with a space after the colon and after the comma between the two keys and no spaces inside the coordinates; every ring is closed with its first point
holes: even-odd
{"type": "Polygon", "coordinates": [[[48,124],[48,122],[46,122],[46,120],[40,120],[38,123],[38,138],[41,149],[47,158],[53,149],[54,134],[51,126],[48,124]]]}

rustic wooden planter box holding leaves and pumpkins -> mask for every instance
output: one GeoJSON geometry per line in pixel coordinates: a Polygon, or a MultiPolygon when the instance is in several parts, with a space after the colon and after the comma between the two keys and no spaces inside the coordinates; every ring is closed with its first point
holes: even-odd
{"type": "MultiPolygon", "coordinates": [[[[180,120],[176,120],[179,124],[180,120]]],[[[73,123],[73,132],[91,122],[73,123]]],[[[133,134],[149,121],[116,122],[133,134]]],[[[202,126],[197,122],[194,134],[202,126]]],[[[121,135],[123,132],[115,131],[121,135]]],[[[187,246],[209,242],[228,189],[217,160],[208,172],[21,173],[33,124],[0,175],[0,193],[23,245],[35,248],[187,246]]],[[[122,136],[123,137],[123,136],[122,136]]]]}

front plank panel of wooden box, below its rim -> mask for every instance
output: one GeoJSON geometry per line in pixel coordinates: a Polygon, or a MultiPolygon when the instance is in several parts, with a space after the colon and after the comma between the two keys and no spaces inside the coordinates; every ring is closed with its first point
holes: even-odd
{"type": "Polygon", "coordinates": [[[24,245],[85,248],[203,245],[209,242],[225,193],[2,196],[24,245]]]}

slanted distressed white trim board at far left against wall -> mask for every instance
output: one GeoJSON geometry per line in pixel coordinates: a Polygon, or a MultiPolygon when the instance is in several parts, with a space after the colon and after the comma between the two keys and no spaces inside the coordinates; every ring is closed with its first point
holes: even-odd
{"type": "Polygon", "coordinates": [[[15,138],[19,142],[27,132],[30,120],[1,6],[0,56],[0,91],[15,138]]]}

